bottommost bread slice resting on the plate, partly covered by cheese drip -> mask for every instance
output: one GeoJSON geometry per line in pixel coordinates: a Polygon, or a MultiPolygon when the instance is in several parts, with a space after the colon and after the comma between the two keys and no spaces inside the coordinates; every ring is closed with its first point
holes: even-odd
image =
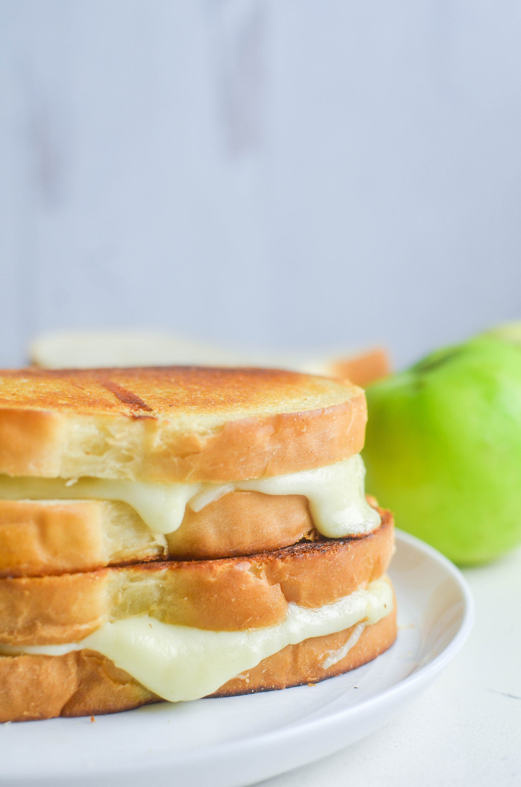
{"type": "MultiPolygon", "coordinates": [[[[366,626],[344,659],[324,670],[330,651],[345,644],[352,629],[288,645],[233,678],[212,696],[231,696],[303,683],[316,683],[356,669],[390,648],[396,638],[396,611],[366,626]]],[[[65,656],[0,656],[0,722],[116,713],[161,698],[94,651],[65,656]]]]}

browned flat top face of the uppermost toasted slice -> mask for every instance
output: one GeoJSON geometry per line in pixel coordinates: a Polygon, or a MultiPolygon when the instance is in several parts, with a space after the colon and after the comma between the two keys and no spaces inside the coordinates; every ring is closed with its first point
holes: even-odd
{"type": "Polygon", "coordinates": [[[209,422],[334,407],[357,386],[296,371],[144,367],[0,371],[0,408],[203,417],[209,422]],[[173,412],[172,412],[173,411],[173,412]]]}

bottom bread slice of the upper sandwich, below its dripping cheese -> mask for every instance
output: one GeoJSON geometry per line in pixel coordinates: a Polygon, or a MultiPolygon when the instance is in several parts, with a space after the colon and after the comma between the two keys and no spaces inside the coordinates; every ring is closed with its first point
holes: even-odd
{"type": "Polygon", "coordinates": [[[166,537],[125,503],[0,500],[0,577],[254,555],[302,538],[316,538],[302,495],[231,492],[197,513],[187,506],[179,530],[166,537]]]}

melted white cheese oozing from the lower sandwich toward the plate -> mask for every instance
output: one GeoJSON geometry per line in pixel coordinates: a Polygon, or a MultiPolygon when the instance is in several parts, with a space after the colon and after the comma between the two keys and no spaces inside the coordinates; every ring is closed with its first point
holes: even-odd
{"type": "MultiPolygon", "coordinates": [[[[286,645],[296,645],[308,637],[334,634],[360,621],[367,625],[377,623],[392,609],[393,591],[389,582],[381,578],[371,582],[367,589],[357,590],[319,609],[306,609],[290,603],[284,622],[270,628],[205,631],[189,626],[172,626],[149,615],[139,615],[105,623],[94,634],[71,645],[3,646],[0,652],[58,656],[72,650],[91,648],[113,660],[117,667],[126,670],[165,700],[196,700],[256,667],[261,660],[286,645]]],[[[328,652],[323,653],[324,669],[344,658],[352,646],[349,641],[347,649],[346,646],[342,648],[342,654],[338,651],[331,654],[332,661],[327,658],[328,652]]]]}

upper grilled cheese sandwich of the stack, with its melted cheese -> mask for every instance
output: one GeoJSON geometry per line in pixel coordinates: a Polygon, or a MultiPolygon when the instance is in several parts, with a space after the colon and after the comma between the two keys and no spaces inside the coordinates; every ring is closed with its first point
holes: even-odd
{"type": "Polygon", "coordinates": [[[0,575],[252,554],[379,525],[357,453],[364,393],[347,382],[24,370],[0,375],[0,396],[0,575]]]}

